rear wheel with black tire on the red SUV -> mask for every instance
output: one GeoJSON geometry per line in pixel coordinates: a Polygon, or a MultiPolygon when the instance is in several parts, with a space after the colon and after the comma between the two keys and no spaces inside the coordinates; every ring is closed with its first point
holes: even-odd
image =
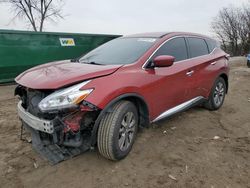
{"type": "Polygon", "coordinates": [[[215,82],[211,90],[208,100],[205,102],[205,108],[209,110],[218,110],[224,102],[226,95],[226,82],[222,77],[219,77],[215,82]],[[219,88],[221,86],[221,88],[219,88]],[[218,91],[218,89],[220,91],[218,91]],[[223,90],[223,91],[222,91],[223,90]],[[217,97],[216,97],[217,96],[217,97]]]}

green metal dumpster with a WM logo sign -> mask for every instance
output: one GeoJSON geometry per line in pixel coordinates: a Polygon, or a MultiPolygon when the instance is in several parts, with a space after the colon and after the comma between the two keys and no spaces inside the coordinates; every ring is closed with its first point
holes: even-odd
{"type": "Polygon", "coordinates": [[[50,61],[72,59],[119,35],[0,30],[0,83],[50,61]]]}

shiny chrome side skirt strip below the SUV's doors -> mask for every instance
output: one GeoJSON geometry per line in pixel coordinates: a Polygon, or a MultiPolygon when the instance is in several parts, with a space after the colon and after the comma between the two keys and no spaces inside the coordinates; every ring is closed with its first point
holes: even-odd
{"type": "Polygon", "coordinates": [[[199,97],[195,97],[194,99],[191,99],[189,101],[186,101],[178,106],[175,106],[175,107],[163,112],[161,115],[159,115],[157,118],[155,118],[152,121],[152,123],[159,121],[163,118],[167,118],[169,116],[172,116],[172,115],[174,115],[178,112],[184,111],[188,108],[191,108],[192,106],[196,105],[197,103],[202,102],[204,99],[205,99],[204,97],[199,96],[199,97]]]}

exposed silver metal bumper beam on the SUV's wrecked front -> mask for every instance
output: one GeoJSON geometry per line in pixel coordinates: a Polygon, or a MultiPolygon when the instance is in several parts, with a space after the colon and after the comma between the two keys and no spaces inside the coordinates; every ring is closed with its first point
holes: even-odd
{"type": "Polygon", "coordinates": [[[54,132],[53,121],[40,119],[32,115],[31,113],[27,112],[22,107],[21,101],[17,105],[17,110],[18,110],[18,116],[20,117],[20,119],[24,121],[31,128],[38,130],[38,131],[45,132],[45,133],[49,133],[49,134],[52,134],[54,132]]]}

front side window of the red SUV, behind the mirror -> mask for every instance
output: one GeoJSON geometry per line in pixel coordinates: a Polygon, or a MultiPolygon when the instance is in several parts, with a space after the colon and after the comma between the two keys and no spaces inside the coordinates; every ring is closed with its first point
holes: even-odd
{"type": "Polygon", "coordinates": [[[160,55],[174,56],[175,61],[187,59],[188,54],[185,39],[180,37],[169,40],[154,54],[153,59],[160,55]]]}

